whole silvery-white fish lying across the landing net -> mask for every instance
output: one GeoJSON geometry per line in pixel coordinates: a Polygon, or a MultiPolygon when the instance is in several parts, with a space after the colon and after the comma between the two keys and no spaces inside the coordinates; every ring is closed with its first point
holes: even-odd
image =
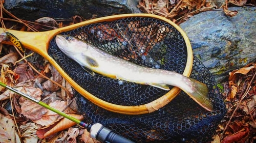
{"type": "Polygon", "coordinates": [[[109,78],[152,85],[166,91],[170,90],[168,85],[172,85],[206,110],[213,110],[207,85],[200,81],[174,71],[136,65],[70,35],[56,35],[55,41],[63,53],[92,75],[96,72],[109,78]]]}

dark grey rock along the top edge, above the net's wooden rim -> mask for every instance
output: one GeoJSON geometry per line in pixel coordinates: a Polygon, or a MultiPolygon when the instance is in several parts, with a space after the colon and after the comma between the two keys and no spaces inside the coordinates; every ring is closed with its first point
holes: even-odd
{"type": "Polygon", "coordinates": [[[83,18],[109,16],[124,13],[140,13],[138,0],[6,0],[4,7],[20,19],[34,21],[41,17],[83,18]]]}

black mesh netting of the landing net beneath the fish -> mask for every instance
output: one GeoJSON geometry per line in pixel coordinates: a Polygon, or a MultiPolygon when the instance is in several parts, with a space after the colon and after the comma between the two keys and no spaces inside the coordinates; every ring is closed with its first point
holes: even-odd
{"type": "MultiPolygon", "coordinates": [[[[63,32],[87,41],[104,51],[135,64],[183,73],[187,50],[184,38],[175,27],[164,21],[131,17],[81,26],[63,32]]],[[[84,71],[50,42],[48,53],[62,69],[83,89],[94,96],[119,105],[141,105],[151,102],[168,91],[84,71]]],[[[86,123],[101,123],[136,142],[206,141],[224,117],[226,109],[216,87],[214,77],[195,58],[192,78],[204,82],[214,111],[199,106],[181,92],[173,101],[159,110],[145,115],[121,115],[102,109],[75,92],[77,105],[84,113],[86,123]]],[[[172,88],[172,87],[170,87],[172,88]]]]}

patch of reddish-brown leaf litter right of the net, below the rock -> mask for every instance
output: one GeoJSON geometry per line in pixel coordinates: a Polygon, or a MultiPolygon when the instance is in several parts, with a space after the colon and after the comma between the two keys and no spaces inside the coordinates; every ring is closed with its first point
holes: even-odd
{"type": "MultiPolygon", "coordinates": [[[[217,129],[220,140],[217,142],[256,141],[256,63],[229,73],[223,84],[227,114],[217,129]]],[[[217,136],[216,135],[216,136],[217,136]]],[[[214,140],[218,140],[218,137],[214,140]]]]}

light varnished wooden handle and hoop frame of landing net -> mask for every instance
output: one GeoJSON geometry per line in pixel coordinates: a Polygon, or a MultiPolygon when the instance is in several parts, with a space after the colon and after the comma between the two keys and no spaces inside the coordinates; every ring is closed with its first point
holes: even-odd
{"type": "MultiPolygon", "coordinates": [[[[48,60],[57,69],[57,71],[63,76],[63,78],[65,78],[72,85],[72,87],[77,92],[79,92],[82,96],[84,96],[94,104],[106,110],[117,112],[117,113],[122,113],[126,115],[140,115],[144,113],[153,112],[163,107],[164,105],[168,104],[179,94],[181,90],[177,87],[174,87],[172,90],[170,90],[168,93],[166,93],[162,97],[144,105],[122,106],[122,105],[112,104],[104,100],[101,100],[95,97],[94,95],[90,94],[86,90],[82,89],[80,85],[78,85],[71,77],[68,76],[67,73],[65,73],[65,71],[61,69],[61,67],[51,58],[51,56],[47,52],[51,39],[59,33],[71,31],[71,30],[74,30],[75,28],[88,25],[88,24],[114,21],[114,20],[119,20],[121,18],[129,18],[129,17],[155,18],[174,26],[181,33],[187,47],[187,63],[186,63],[186,67],[183,72],[183,75],[184,76],[190,75],[191,69],[193,67],[193,52],[192,52],[192,48],[187,35],[177,24],[158,15],[138,13],[138,14],[121,14],[121,15],[106,16],[106,17],[91,19],[88,21],[69,25],[66,27],[61,27],[56,30],[47,31],[47,32],[21,32],[21,31],[9,30],[9,29],[6,31],[13,34],[15,37],[17,37],[17,39],[22,43],[24,47],[37,52],[38,54],[43,56],[46,60],[48,60]]],[[[6,31],[4,31],[3,28],[0,28],[0,33],[6,32],[6,31]]],[[[10,42],[6,42],[6,41],[3,41],[2,43],[11,44],[10,42]]]]}

